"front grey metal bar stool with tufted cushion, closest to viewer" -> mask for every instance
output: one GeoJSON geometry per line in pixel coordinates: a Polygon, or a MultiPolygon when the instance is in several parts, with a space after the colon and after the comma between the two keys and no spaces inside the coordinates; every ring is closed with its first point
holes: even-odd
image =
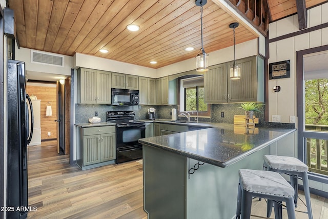
{"type": "Polygon", "coordinates": [[[275,218],[280,219],[282,218],[280,202],[285,202],[288,218],[296,218],[293,202],[294,189],[279,173],[265,170],[240,169],[236,211],[238,219],[249,219],[251,217],[253,197],[276,201],[273,204],[275,218]]]}

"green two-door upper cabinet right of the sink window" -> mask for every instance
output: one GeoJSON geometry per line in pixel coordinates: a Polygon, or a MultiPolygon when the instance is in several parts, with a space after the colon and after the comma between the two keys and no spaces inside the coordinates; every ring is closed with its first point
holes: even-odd
{"type": "Polygon", "coordinates": [[[263,59],[259,56],[236,61],[241,68],[240,79],[230,79],[230,63],[210,67],[204,73],[206,103],[263,102],[263,59]]]}

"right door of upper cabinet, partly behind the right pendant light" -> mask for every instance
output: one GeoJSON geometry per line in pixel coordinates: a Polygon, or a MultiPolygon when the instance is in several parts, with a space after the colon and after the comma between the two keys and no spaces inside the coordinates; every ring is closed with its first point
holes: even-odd
{"type": "Polygon", "coordinates": [[[257,101],[256,56],[239,59],[237,64],[241,68],[240,79],[230,80],[228,77],[228,102],[257,101]]]}

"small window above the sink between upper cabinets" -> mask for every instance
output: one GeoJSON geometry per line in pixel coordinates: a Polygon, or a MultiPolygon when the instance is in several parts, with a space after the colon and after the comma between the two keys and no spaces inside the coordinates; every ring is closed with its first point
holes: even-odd
{"type": "Polygon", "coordinates": [[[210,116],[211,107],[204,103],[204,77],[203,75],[181,79],[180,81],[180,111],[188,111],[195,115],[210,116]]]}

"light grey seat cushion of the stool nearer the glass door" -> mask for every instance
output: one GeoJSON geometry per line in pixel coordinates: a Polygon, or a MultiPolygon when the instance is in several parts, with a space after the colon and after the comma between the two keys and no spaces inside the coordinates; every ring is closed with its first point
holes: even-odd
{"type": "Polygon", "coordinates": [[[264,162],[267,163],[272,169],[295,172],[308,172],[309,170],[309,167],[296,157],[264,155],[263,158],[264,162]]]}

